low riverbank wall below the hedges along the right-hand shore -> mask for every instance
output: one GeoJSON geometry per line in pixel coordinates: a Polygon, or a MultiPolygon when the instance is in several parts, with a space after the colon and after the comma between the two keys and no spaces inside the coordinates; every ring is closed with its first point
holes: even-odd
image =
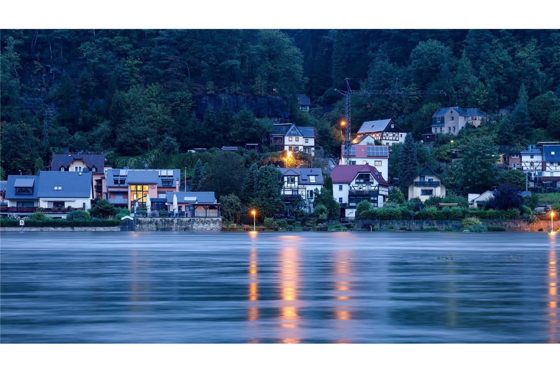
{"type": "MultiPolygon", "coordinates": [[[[511,232],[538,232],[539,229],[545,232],[550,229],[550,220],[539,220],[529,224],[523,219],[516,220],[491,220],[481,219],[483,225],[501,226],[511,232]]],[[[362,228],[375,226],[377,229],[395,229],[401,227],[411,230],[422,230],[424,228],[435,227],[438,230],[461,230],[461,220],[362,220],[362,228]]],[[[554,221],[554,229],[560,228],[560,221],[554,221]]]]}

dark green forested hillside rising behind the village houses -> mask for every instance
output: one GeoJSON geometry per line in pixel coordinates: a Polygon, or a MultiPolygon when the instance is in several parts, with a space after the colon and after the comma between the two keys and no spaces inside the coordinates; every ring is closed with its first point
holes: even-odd
{"type": "Polygon", "coordinates": [[[271,116],[315,126],[333,153],[346,77],[449,92],[354,96],[354,130],[393,117],[420,139],[440,106],[511,106],[485,134],[496,144],[560,138],[558,30],[2,30],[1,50],[5,174],[58,148],[116,158],[261,142],[271,116]]]}

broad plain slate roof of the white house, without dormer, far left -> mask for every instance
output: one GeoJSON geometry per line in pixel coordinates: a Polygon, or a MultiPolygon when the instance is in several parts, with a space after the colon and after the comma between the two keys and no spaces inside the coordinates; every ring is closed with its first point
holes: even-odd
{"type": "Polygon", "coordinates": [[[68,171],[40,171],[39,190],[37,196],[45,197],[77,197],[87,198],[91,196],[91,173],[90,172],[68,172],[68,171]],[[62,187],[54,190],[55,186],[62,187]]]}

